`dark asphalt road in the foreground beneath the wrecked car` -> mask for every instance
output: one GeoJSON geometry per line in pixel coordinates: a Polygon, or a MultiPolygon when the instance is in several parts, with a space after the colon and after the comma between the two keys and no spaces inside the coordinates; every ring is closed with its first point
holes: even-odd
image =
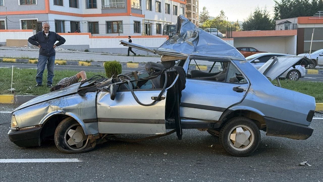
{"type": "MultiPolygon", "coordinates": [[[[323,119],[314,119],[307,140],[266,136],[261,132],[258,150],[249,157],[225,153],[218,139],[206,131],[184,130],[137,143],[109,141],[88,153],[62,154],[53,141],[21,148],[7,137],[13,105],[0,105],[0,159],[76,158],[81,162],[0,163],[0,181],[313,181],[323,179],[323,119]],[[310,166],[299,165],[307,161],[310,166]]],[[[323,118],[316,114],[316,118],[323,118]]],[[[135,137],[131,135],[131,137],[135,137]]]]}

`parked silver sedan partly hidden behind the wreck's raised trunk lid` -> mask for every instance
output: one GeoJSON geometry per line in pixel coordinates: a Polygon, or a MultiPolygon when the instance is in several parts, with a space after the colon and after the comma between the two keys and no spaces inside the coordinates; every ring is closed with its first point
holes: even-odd
{"type": "MultiPolygon", "coordinates": [[[[257,70],[264,65],[272,57],[281,57],[281,56],[293,56],[290,54],[280,54],[280,53],[257,53],[251,56],[246,57],[245,59],[251,63],[257,70]]],[[[306,74],[305,65],[297,65],[290,67],[286,72],[279,76],[279,78],[287,78],[290,80],[298,80],[303,78],[306,74]]]]}

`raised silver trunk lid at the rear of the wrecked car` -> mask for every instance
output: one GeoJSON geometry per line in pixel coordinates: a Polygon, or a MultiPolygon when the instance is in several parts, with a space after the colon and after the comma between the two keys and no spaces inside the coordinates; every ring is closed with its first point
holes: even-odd
{"type": "Polygon", "coordinates": [[[286,72],[290,67],[297,65],[308,65],[311,60],[303,56],[281,56],[273,57],[261,66],[258,71],[271,80],[286,72]]]}

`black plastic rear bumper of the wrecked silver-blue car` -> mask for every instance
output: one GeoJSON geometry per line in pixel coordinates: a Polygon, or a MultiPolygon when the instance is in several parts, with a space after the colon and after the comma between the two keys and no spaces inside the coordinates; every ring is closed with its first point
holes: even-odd
{"type": "Polygon", "coordinates": [[[268,136],[279,136],[296,140],[306,140],[313,133],[310,126],[264,117],[268,136]]]}

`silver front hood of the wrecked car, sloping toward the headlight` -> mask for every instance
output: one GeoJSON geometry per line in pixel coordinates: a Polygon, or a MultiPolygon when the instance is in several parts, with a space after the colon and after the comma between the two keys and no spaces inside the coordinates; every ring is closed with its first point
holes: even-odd
{"type": "Polygon", "coordinates": [[[63,96],[67,96],[67,95],[73,95],[78,91],[78,86],[80,85],[79,83],[70,85],[66,88],[62,88],[59,90],[56,90],[54,92],[49,92],[47,94],[38,96],[36,98],[33,98],[31,100],[29,100],[28,102],[25,102],[24,104],[20,105],[18,108],[16,108],[14,111],[22,109],[22,108],[26,108],[28,106],[34,105],[34,104],[38,104],[47,100],[52,100],[54,98],[58,98],[58,97],[63,97],[63,96]]]}

